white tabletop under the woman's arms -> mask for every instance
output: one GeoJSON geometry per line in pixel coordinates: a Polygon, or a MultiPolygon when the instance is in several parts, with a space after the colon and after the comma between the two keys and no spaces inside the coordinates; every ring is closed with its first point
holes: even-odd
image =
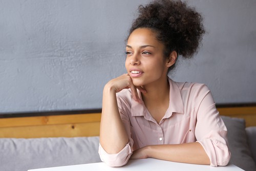
{"type": "Polygon", "coordinates": [[[49,167],[49,168],[39,168],[31,169],[28,171],[85,171],[85,170],[133,170],[133,171],[150,171],[150,170],[189,170],[189,171],[241,171],[243,169],[229,164],[227,166],[212,167],[209,165],[199,165],[199,164],[185,164],[176,163],[164,160],[158,160],[153,158],[140,159],[140,160],[130,160],[125,166],[122,167],[110,167],[105,163],[90,163],[90,164],[79,164],[61,167],[49,167]]]}

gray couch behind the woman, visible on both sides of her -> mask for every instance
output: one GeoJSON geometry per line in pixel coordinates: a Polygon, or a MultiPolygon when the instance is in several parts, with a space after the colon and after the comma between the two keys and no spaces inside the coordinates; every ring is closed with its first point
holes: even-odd
{"type": "MultiPolygon", "coordinates": [[[[247,171],[256,170],[256,127],[243,119],[222,117],[227,129],[231,163],[247,171]]],[[[100,162],[99,137],[76,138],[0,138],[0,170],[26,171],[100,162]]]]}

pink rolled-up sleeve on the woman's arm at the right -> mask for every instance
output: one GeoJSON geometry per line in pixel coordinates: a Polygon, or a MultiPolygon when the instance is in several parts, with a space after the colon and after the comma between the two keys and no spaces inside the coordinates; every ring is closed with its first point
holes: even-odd
{"type": "Polygon", "coordinates": [[[209,89],[204,85],[197,94],[196,138],[210,159],[211,166],[225,166],[230,160],[227,129],[219,116],[209,89]]]}

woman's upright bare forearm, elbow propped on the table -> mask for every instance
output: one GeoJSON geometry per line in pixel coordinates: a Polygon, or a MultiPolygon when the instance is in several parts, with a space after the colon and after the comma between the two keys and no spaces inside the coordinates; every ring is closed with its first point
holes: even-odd
{"type": "Polygon", "coordinates": [[[109,154],[120,152],[129,138],[122,123],[116,100],[116,92],[105,86],[102,99],[100,144],[109,154]]]}

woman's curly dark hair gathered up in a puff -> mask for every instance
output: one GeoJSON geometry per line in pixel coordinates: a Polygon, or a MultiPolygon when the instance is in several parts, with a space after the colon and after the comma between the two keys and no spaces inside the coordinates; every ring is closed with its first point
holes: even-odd
{"type": "MultiPolygon", "coordinates": [[[[151,29],[157,39],[165,46],[164,56],[169,57],[172,51],[184,58],[197,53],[202,36],[205,33],[202,17],[186,3],[175,0],[156,0],[140,5],[139,16],[134,20],[129,32],[138,28],[151,29]]],[[[129,37],[128,36],[128,37],[129,37]]],[[[174,66],[170,67],[170,69],[174,66]]]]}

